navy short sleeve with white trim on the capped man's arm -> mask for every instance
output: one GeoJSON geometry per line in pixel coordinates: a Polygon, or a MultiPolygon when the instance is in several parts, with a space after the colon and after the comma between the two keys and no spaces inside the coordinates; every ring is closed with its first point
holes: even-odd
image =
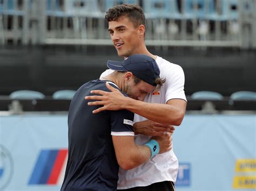
{"type": "Polygon", "coordinates": [[[127,110],[111,112],[111,135],[114,136],[134,136],[133,132],[134,114],[127,110]]]}

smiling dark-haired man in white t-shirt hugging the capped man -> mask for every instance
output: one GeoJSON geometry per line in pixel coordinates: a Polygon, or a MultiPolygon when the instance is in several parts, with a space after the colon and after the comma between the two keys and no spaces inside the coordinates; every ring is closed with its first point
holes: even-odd
{"type": "MultiPolygon", "coordinates": [[[[185,77],[183,69],[167,60],[150,53],[145,45],[146,19],[143,10],[138,5],[122,4],[114,6],[106,12],[109,23],[109,33],[118,56],[129,57],[133,54],[146,54],[160,69],[160,77],[166,79],[163,86],[157,87],[153,93],[147,94],[144,102],[124,97],[107,85],[111,92],[98,92],[102,96],[86,97],[97,101],[89,103],[102,107],[94,113],[105,110],[129,110],[134,115],[133,129],[139,135],[136,143],[143,145],[151,139],[151,129],[179,126],[186,111],[186,96],[184,92],[185,77]],[[154,122],[153,122],[154,121],[154,122]],[[156,124],[156,122],[162,124],[156,124]]],[[[105,71],[101,78],[112,73],[105,71]]],[[[156,156],[143,165],[131,170],[119,170],[118,189],[130,191],[174,190],[174,182],[178,173],[178,159],[173,150],[156,156]]]]}

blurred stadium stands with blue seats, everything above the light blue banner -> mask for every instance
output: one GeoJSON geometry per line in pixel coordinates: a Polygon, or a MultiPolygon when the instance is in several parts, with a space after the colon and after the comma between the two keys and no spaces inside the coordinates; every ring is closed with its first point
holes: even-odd
{"type": "Polygon", "coordinates": [[[67,111],[75,90],[116,59],[104,15],[123,3],[143,8],[151,51],[183,67],[188,110],[255,110],[256,1],[0,0],[0,111],[16,99],[24,111],[67,111]]]}

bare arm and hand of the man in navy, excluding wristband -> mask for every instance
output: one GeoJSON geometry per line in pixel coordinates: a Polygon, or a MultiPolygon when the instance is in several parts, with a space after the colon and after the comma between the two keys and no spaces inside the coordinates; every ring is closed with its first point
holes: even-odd
{"type": "MultiPolygon", "coordinates": [[[[171,134],[161,137],[152,137],[159,144],[159,154],[170,151],[172,148],[171,134]]],[[[139,146],[134,144],[132,136],[113,136],[114,151],[118,165],[125,170],[135,168],[148,161],[151,156],[151,150],[148,146],[139,146]]]]}

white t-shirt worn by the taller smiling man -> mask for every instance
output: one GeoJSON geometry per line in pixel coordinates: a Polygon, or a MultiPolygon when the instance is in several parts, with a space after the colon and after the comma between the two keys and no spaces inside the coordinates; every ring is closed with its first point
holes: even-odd
{"type": "MultiPolygon", "coordinates": [[[[153,93],[146,95],[144,101],[147,103],[166,104],[170,99],[186,100],[184,92],[185,77],[183,69],[177,65],[168,62],[167,60],[157,57],[156,62],[160,69],[160,77],[166,81],[161,87],[156,87],[153,93]]],[[[113,72],[106,70],[100,77],[105,77],[113,72]]],[[[134,115],[134,121],[147,120],[140,115],[134,115]]],[[[146,144],[151,137],[139,134],[135,142],[137,145],[146,144]]],[[[117,189],[128,189],[138,186],[149,186],[152,183],[163,181],[176,181],[178,173],[178,159],[171,151],[158,154],[151,160],[145,162],[136,168],[130,170],[119,169],[119,180],[117,189]]]]}

